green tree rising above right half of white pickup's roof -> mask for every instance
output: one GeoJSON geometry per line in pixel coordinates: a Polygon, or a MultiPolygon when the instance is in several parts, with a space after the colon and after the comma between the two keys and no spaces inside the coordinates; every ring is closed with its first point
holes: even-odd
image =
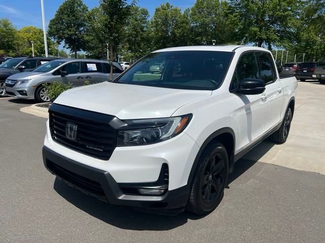
{"type": "Polygon", "coordinates": [[[219,0],[197,0],[190,10],[192,35],[194,44],[236,43],[238,21],[230,13],[229,4],[219,0]]]}

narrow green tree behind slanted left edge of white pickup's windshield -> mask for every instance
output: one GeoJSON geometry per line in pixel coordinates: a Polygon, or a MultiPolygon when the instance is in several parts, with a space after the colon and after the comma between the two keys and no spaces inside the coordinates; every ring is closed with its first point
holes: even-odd
{"type": "Polygon", "coordinates": [[[150,51],[149,12],[147,9],[135,7],[127,21],[125,28],[125,42],[127,51],[132,53],[136,61],[150,51]]]}

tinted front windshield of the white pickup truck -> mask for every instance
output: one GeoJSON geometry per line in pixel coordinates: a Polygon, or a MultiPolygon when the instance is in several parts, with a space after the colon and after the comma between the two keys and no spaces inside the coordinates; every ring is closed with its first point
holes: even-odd
{"type": "Polygon", "coordinates": [[[114,83],[171,89],[215,90],[222,83],[232,52],[150,53],[114,83]]]}

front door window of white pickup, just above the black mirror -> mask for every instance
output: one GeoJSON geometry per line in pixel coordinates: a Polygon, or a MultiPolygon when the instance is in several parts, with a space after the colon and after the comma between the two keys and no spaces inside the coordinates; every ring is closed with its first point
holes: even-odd
{"type": "Polygon", "coordinates": [[[236,70],[232,80],[231,89],[239,87],[239,82],[245,78],[261,78],[257,67],[256,57],[254,52],[244,53],[236,66],[236,70]]]}

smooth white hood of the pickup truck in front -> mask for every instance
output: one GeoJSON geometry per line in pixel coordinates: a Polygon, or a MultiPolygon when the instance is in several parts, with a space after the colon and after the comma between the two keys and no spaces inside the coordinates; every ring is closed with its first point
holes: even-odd
{"type": "Polygon", "coordinates": [[[54,103],[120,119],[157,118],[170,117],[179,107],[211,93],[105,82],[63,92],[54,103]]]}

